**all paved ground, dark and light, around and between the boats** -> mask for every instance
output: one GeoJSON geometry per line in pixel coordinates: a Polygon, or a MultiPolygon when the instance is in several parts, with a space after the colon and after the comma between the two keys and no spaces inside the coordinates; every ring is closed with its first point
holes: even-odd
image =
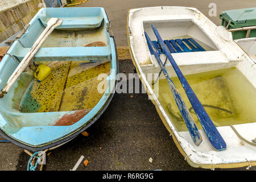
{"type": "MultiPolygon", "coordinates": [[[[254,7],[250,0],[234,1],[115,1],[89,0],[80,7],[101,6],[106,9],[117,46],[127,46],[126,19],[129,9],[146,6],[196,7],[208,16],[209,3],[216,3],[217,15],[224,10],[254,7]]],[[[208,16],[209,17],[209,16],[208,16]]],[[[218,17],[209,17],[220,24],[218,17]]],[[[119,61],[119,72],[133,73],[131,60],[119,61]]],[[[64,146],[49,151],[47,171],[69,171],[81,155],[89,160],[77,170],[205,170],[192,168],[177,150],[147,94],[115,94],[108,109],[88,130],[64,146]],[[152,163],[148,160],[152,158],[152,163]]],[[[0,140],[3,139],[0,137],[0,140]]],[[[0,170],[26,170],[29,156],[11,143],[0,143],[0,170]]],[[[209,169],[207,169],[209,170],[209,169]]],[[[216,170],[246,170],[243,168],[216,170]]],[[[256,167],[250,168],[256,171],[256,167]]]]}

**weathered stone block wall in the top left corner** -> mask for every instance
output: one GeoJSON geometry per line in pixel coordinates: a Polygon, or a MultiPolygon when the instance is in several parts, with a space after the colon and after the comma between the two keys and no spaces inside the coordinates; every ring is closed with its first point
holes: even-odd
{"type": "MultiPolygon", "coordinates": [[[[23,0],[22,0],[23,1],[23,0]]],[[[22,30],[40,9],[41,0],[28,0],[0,11],[0,43],[22,30]]]]}

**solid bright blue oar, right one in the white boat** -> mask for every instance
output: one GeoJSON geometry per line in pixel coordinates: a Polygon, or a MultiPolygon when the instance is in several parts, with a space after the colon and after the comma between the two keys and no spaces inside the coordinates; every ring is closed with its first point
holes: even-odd
{"type": "Polygon", "coordinates": [[[168,57],[168,60],[171,62],[172,67],[174,68],[177,76],[179,77],[181,85],[183,86],[183,89],[185,90],[185,93],[187,94],[188,99],[189,99],[205,133],[207,134],[207,137],[208,137],[210,143],[212,144],[213,148],[215,148],[217,151],[225,150],[226,143],[225,143],[224,139],[221,137],[217,128],[214,126],[212,120],[210,119],[209,115],[207,114],[207,111],[205,111],[203,105],[196,97],[196,94],[193,92],[191,86],[188,84],[188,81],[184,77],[183,73],[181,73],[180,68],[176,64],[170,51],[168,51],[168,48],[164,44],[163,39],[161,38],[161,36],[158,33],[158,30],[156,30],[156,28],[153,24],[151,24],[151,26],[153,28],[156,38],[158,39],[160,46],[162,46],[164,54],[168,57]]]}

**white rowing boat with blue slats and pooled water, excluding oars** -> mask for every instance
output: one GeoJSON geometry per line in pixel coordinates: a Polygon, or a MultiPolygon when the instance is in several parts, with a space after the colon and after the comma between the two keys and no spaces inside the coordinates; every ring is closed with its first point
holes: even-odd
{"type": "Polygon", "coordinates": [[[128,14],[127,36],[134,66],[177,148],[193,167],[233,168],[256,165],[256,65],[232,39],[225,27],[217,27],[190,7],[146,7],[128,14]],[[210,145],[170,61],[165,68],[190,111],[203,142],[196,146],[180,116],[158,61],[148,48],[144,32],[164,63],[166,55],[152,31],[154,24],[172,57],[203,104],[226,149],[210,145]],[[170,46],[170,47],[169,47],[170,46]],[[149,75],[154,84],[152,84],[149,75]],[[230,126],[231,125],[231,126],[230,126]]]}

